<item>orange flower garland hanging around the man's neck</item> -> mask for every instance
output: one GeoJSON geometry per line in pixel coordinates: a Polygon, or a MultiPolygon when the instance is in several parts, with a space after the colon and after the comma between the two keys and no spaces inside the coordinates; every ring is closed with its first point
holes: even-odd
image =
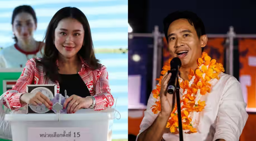
{"type": "MultiPolygon", "coordinates": [[[[168,70],[170,70],[169,59],[168,64],[163,66],[161,74],[164,75],[168,70]]],[[[183,96],[180,100],[181,106],[181,117],[182,117],[182,129],[185,133],[196,133],[196,128],[193,127],[195,123],[195,117],[193,116],[197,112],[201,112],[205,107],[205,101],[201,101],[202,95],[209,93],[211,91],[210,80],[216,78],[219,79],[219,73],[224,72],[223,65],[216,63],[215,59],[211,60],[211,57],[207,55],[206,52],[202,53],[202,58],[197,60],[198,67],[195,72],[190,69],[189,80],[180,82],[180,87],[183,89],[183,96]]],[[[154,114],[158,114],[161,111],[161,101],[160,101],[160,90],[161,90],[161,80],[163,76],[156,79],[159,84],[156,85],[156,89],[152,91],[153,97],[156,98],[155,104],[151,107],[154,114]]],[[[177,116],[177,104],[170,114],[169,120],[167,122],[166,128],[170,128],[170,132],[173,134],[178,134],[178,116],[177,116]]]]}

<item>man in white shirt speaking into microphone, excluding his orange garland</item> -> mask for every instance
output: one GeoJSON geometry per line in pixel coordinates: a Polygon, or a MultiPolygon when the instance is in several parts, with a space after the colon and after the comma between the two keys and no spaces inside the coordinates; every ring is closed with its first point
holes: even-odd
{"type": "MultiPolygon", "coordinates": [[[[173,57],[179,57],[182,62],[179,81],[190,81],[190,69],[197,72],[196,69],[199,68],[197,60],[201,58],[203,47],[207,43],[202,20],[195,13],[189,11],[174,12],[164,19],[164,32],[170,53],[173,57]]],[[[209,65],[206,67],[208,69],[209,65]]],[[[161,86],[159,91],[161,105],[158,106],[161,110],[155,113],[153,113],[152,106],[156,105],[157,99],[151,93],[148,99],[147,110],[144,112],[144,118],[140,125],[137,141],[179,140],[178,132],[171,133],[175,129],[170,130],[171,128],[166,128],[168,124],[168,127],[170,127],[171,122],[169,120],[171,118],[169,117],[174,108],[172,107],[172,99],[175,98],[172,94],[166,92],[171,75],[171,73],[164,74],[161,83],[158,84],[161,86]]],[[[205,77],[206,75],[204,74],[203,78],[205,79],[205,77]]],[[[183,130],[183,139],[185,141],[239,140],[248,118],[245,110],[247,104],[243,100],[240,83],[235,77],[222,72],[218,74],[218,77],[219,79],[212,78],[209,81],[211,83],[211,90],[202,95],[200,99],[205,101],[203,110],[201,112],[194,112],[194,116],[189,118],[194,121],[191,126],[196,131],[190,130],[192,132],[186,132],[183,130]]],[[[187,93],[187,91],[183,92],[180,89],[181,99],[187,93]]],[[[177,126],[174,127],[177,128],[177,126]]]]}

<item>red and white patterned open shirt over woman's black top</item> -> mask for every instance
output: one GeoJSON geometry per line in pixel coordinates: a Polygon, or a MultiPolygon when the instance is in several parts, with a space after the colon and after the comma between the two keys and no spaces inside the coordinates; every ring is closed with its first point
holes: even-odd
{"type": "MultiPolygon", "coordinates": [[[[80,57],[81,59],[81,57],[80,57]]],[[[83,59],[81,59],[82,68],[78,72],[84,83],[88,87],[90,94],[95,98],[95,110],[103,110],[106,107],[111,107],[114,103],[112,94],[108,84],[108,72],[104,65],[99,69],[92,70],[83,59]]],[[[56,61],[58,66],[58,60],[56,61]]],[[[26,62],[20,78],[17,80],[12,89],[4,93],[3,104],[7,106],[8,101],[11,110],[26,106],[20,103],[21,94],[26,93],[26,85],[32,84],[56,84],[57,93],[59,93],[59,82],[49,79],[46,76],[44,68],[41,65],[36,67],[35,59],[30,59],[26,62]]]]}

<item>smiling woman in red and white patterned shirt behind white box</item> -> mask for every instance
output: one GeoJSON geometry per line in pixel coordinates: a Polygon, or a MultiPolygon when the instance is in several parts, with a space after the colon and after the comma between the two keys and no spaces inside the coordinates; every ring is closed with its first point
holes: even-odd
{"type": "Polygon", "coordinates": [[[50,21],[44,40],[43,58],[28,60],[11,89],[15,91],[4,93],[12,110],[26,104],[52,108],[52,102],[42,93],[26,93],[28,84],[56,84],[57,93],[61,94],[66,89],[70,97],[63,107],[68,113],[89,107],[102,110],[113,105],[108,73],[95,58],[90,26],[82,11],[71,7],[60,9],[50,21]]]}

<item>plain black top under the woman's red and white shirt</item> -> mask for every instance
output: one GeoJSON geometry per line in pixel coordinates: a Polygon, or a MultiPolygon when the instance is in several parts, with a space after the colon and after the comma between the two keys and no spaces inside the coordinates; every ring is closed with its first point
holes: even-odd
{"type": "Polygon", "coordinates": [[[91,96],[89,89],[84,84],[83,79],[79,74],[59,74],[60,75],[60,94],[65,96],[65,89],[67,90],[67,95],[71,96],[73,94],[85,98],[86,96],[91,96]]]}

